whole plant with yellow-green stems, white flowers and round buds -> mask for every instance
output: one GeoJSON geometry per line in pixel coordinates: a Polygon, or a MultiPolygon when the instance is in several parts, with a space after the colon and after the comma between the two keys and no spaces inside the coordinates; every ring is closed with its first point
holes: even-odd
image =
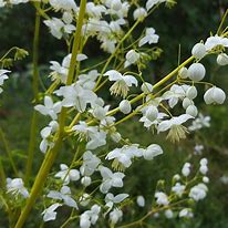
{"type": "MultiPolygon", "coordinates": [[[[0,0],[0,7],[22,2],[28,0],[0,0]]],[[[153,129],[155,134],[168,132],[167,139],[178,143],[204,124],[196,122],[198,108],[194,100],[199,87],[206,87],[206,104],[222,104],[226,100],[221,89],[205,81],[206,69],[201,61],[208,55],[216,55],[217,64],[228,64],[228,32],[227,28],[222,29],[227,12],[216,34],[196,43],[190,58],[152,84],[144,80],[144,70],[149,61],[162,53],[156,46],[159,37],[154,28],[145,28],[136,37],[134,31],[159,6],[173,7],[176,3],[174,0],[147,0],[145,6],[139,6],[139,1],[122,0],[81,0],[80,6],[73,0],[31,3],[37,15],[33,42],[34,112],[28,162],[22,178],[6,178],[0,160],[3,207],[9,213],[11,226],[15,228],[23,227],[38,200],[44,222],[58,219],[59,209],[69,207],[70,216],[59,227],[75,221],[81,228],[99,222],[115,227],[124,219],[123,211],[133,205],[129,194],[120,190],[124,187],[127,169],[135,160],[156,159],[164,153],[158,144],[143,146],[131,142],[118,132],[118,125],[139,116],[138,121],[147,129],[153,129]],[[134,21],[132,25],[128,21],[131,15],[134,21]],[[61,63],[50,62],[51,84],[45,91],[40,91],[38,68],[42,20],[50,33],[63,39],[70,50],[61,63]],[[96,39],[106,55],[102,62],[85,68],[84,62],[90,56],[84,50],[90,39],[96,39]],[[102,96],[101,91],[106,87],[111,95],[121,99],[118,106],[113,107],[102,96]],[[135,94],[134,91],[139,92],[135,94]],[[183,106],[178,114],[175,113],[177,104],[183,106]],[[40,151],[44,159],[31,185],[39,115],[48,116],[50,122],[40,132],[40,151]],[[186,125],[188,122],[193,122],[189,127],[186,125]],[[63,145],[68,151],[62,149],[63,145]],[[59,153],[69,157],[68,164],[56,159],[59,153]],[[60,170],[51,173],[55,162],[59,162],[60,170]],[[17,217],[18,210],[20,215],[14,224],[13,217],[17,217]]],[[[27,54],[24,50],[13,48],[0,59],[0,92],[10,75],[6,69],[27,54]],[[14,59],[10,59],[9,54],[13,51],[14,59]]],[[[204,199],[208,191],[207,165],[206,158],[200,159],[197,173],[193,175],[191,164],[185,163],[182,174],[174,175],[170,180],[169,190],[163,182],[158,182],[147,214],[138,220],[124,221],[122,227],[141,226],[158,213],[164,213],[167,218],[193,217],[193,201],[204,199]]],[[[17,170],[13,163],[12,168],[17,170]]],[[[136,204],[144,207],[145,198],[138,196],[136,204]]]]}

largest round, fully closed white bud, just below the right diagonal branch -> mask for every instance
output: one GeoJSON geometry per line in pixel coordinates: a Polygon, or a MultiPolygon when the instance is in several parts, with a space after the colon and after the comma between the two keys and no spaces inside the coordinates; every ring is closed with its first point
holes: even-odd
{"type": "Polygon", "coordinates": [[[201,63],[193,63],[188,69],[188,77],[193,81],[201,81],[205,77],[206,70],[201,63]]]}

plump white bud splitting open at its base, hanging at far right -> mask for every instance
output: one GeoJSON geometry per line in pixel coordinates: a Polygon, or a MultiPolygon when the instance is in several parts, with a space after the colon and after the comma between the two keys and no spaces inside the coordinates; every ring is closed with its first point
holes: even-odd
{"type": "Polygon", "coordinates": [[[206,104],[222,104],[226,100],[226,94],[221,89],[214,86],[206,91],[204,100],[206,104]]]}

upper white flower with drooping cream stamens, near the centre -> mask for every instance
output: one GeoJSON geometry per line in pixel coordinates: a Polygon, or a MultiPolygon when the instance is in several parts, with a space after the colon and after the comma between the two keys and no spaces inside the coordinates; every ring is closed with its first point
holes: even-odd
{"type": "Polygon", "coordinates": [[[108,76],[108,80],[115,83],[111,86],[111,94],[121,95],[126,97],[129,89],[133,84],[137,86],[137,80],[132,75],[122,75],[115,70],[107,71],[104,76],[108,76]]]}

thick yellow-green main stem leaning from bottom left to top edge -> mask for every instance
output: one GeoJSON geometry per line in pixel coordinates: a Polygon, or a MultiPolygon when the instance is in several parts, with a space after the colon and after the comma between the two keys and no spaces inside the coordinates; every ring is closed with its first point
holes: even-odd
{"type": "MultiPolygon", "coordinates": [[[[69,75],[68,75],[68,81],[66,84],[71,84],[73,76],[74,76],[74,70],[75,70],[75,64],[76,64],[76,54],[79,51],[79,43],[81,40],[81,30],[82,30],[82,24],[83,24],[83,19],[84,19],[84,14],[85,14],[85,6],[86,6],[86,0],[81,0],[81,4],[80,4],[80,13],[79,13],[79,19],[77,19],[77,27],[76,27],[76,31],[74,34],[74,43],[73,43],[73,49],[72,49],[72,58],[71,58],[71,63],[70,63],[70,70],[69,70],[69,75]]],[[[41,168],[37,175],[35,182],[32,186],[31,189],[31,194],[30,197],[25,204],[25,207],[23,208],[17,224],[15,224],[15,228],[21,228],[23,227],[38,196],[40,195],[40,193],[42,191],[43,185],[45,183],[45,179],[50,173],[50,169],[55,160],[55,157],[61,148],[62,142],[63,142],[63,137],[64,137],[64,124],[65,124],[65,117],[66,117],[66,108],[62,108],[61,113],[60,113],[60,127],[59,127],[59,132],[56,133],[56,142],[54,144],[54,146],[49,149],[42,165],[41,168]]]]}

